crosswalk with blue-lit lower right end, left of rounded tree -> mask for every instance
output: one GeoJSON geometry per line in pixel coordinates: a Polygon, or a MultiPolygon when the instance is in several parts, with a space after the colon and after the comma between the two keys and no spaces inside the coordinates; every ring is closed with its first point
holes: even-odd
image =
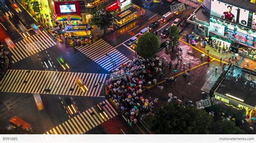
{"type": "Polygon", "coordinates": [[[76,46],[75,48],[107,71],[111,71],[113,68],[117,68],[129,61],[125,55],[103,39],[96,41],[92,45],[76,46]]]}

